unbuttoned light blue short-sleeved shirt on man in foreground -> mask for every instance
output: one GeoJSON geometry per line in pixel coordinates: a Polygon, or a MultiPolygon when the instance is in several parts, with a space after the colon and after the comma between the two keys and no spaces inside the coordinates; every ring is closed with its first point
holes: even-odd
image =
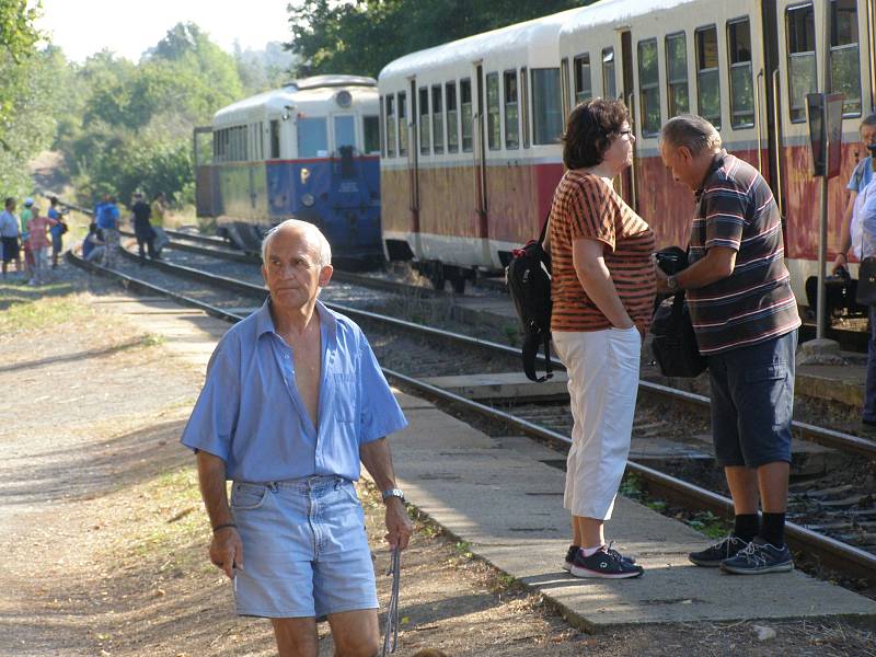
{"type": "Polygon", "coordinates": [[[295,383],[292,350],[274,331],[270,300],[231,327],[182,443],[226,461],[230,480],[311,475],[359,479],[359,447],[407,426],[368,339],[349,318],[316,301],[322,336],[319,427],[295,383]]]}

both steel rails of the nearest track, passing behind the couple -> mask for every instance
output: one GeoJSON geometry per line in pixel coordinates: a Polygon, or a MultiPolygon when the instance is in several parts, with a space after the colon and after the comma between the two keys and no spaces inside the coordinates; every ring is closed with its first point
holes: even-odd
{"type": "MultiPolygon", "coordinates": [[[[148,293],[170,296],[181,303],[200,308],[206,312],[215,316],[222,318],[227,321],[235,322],[244,316],[244,313],[239,310],[224,308],[216,303],[208,303],[193,298],[192,296],[166,289],[166,287],[155,286],[129,274],[124,274],[122,272],[107,272],[95,265],[84,263],[70,253],[68,253],[68,258],[77,266],[100,270],[101,273],[122,278],[123,280],[126,280],[128,287],[132,289],[143,290],[148,293]]],[[[191,267],[183,268],[161,262],[157,262],[155,265],[166,272],[174,272],[175,276],[197,279],[210,286],[228,289],[233,293],[257,298],[260,301],[264,299],[266,293],[265,288],[262,286],[234,280],[231,278],[217,278],[214,275],[198,272],[197,269],[191,267]]],[[[360,323],[380,325],[384,331],[389,330],[391,332],[407,334],[413,333],[418,336],[418,339],[426,338],[430,343],[439,341],[442,344],[456,345],[457,351],[461,351],[463,349],[477,349],[489,351],[496,356],[508,359],[509,361],[514,362],[515,366],[517,366],[519,362],[518,350],[505,345],[499,345],[489,341],[471,336],[459,335],[448,331],[423,326],[413,322],[389,318],[357,308],[336,303],[326,304],[338,312],[343,312],[344,314],[351,316],[360,323]]],[[[446,350],[443,354],[446,354],[446,350]]],[[[452,392],[448,392],[447,390],[433,385],[420,378],[410,376],[410,373],[404,373],[394,369],[384,369],[384,371],[388,378],[396,381],[400,384],[403,384],[404,387],[417,390],[422,394],[426,394],[433,399],[451,404],[457,408],[464,410],[466,413],[476,414],[483,418],[486,418],[486,420],[489,423],[502,423],[503,425],[514,427],[528,436],[549,442],[550,445],[560,447],[561,449],[570,443],[570,439],[566,433],[545,426],[544,422],[533,422],[528,419],[525,416],[527,413],[526,408],[521,408],[520,412],[511,413],[495,406],[469,400],[452,392]]],[[[707,407],[708,403],[707,399],[703,397],[702,395],[678,391],[665,385],[646,381],[642,382],[642,390],[646,394],[655,394],[662,400],[670,400],[672,403],[683,404],[685,407],[695,406],[702,410],[703,407],[707,407]]],[[[829,445],[833,449],[854,453],[857,457],[864,456],[868,460],[876,458],[876,443],[864,438],[850,436],[848,434],[842,434],[840,431],[834,431],[814,425],[803,425],[802,423],[795,423],[795,430],[806,435],[809,439],[814,439],[822,445],[829,445]]],[[[639,479],[649,493],[673,500],[685,509],[710,510],[723,517],[731,515],[731,502],[728,498],[708,491],[703,486],[683,481],[680,477],[672,476],[634,460],[631,460],[627,463],[627,470],[639,479]]],[[[837,504],[837,508],[842,509],[854,505],[861,506],[861,502],[865,498],[865,496],[858,495],[855,497],[854,493],[854,491],[842,489],[842,487],[837,491],[830,488],[818,489],[816,486],[812,486],[806,492],[805,497],[806,499],[812,499],[815,504],[821,505],[819,508],[822,508],[825,504],[828,508],[830,508],[831,503],[839,503],[837,504]],[[852,502],[843,506],[843,499],[838,498],[842,496],[845,497],[846,502],[849,499],[852,499],[852,502]]],[[[857,514],[858,518],[855,521],[856,527],[863,527],[864,529],[869,527],[869,525],[876,527],[876,508],[866,509],[862,507],[857,510],[860,512],[857,514]]],[[[876,554],[874,554],[874,552],[828,535],[830,532],[839,532],[842,534],[843,528],[845,525],[848,525],[843,522],[844,520],[841,520],[840,516],[827,518],[827,520],[820,522],[820,527],[823,529],[825,533],[814,531],[812,529],[808,529],[795,522],[789,522],[787,527],[788,543],[792,545],[792,548],[814,557],[819,565],[837,568],[848,576],[863,578],[871,584],[876,583],[876,554]]],[[[876,542],[874,542],[874,545],[876,545],[876,542]]]]}

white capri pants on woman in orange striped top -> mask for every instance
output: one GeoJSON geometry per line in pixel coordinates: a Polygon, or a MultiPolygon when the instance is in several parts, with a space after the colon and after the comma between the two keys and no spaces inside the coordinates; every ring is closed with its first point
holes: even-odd
{"type": "Polygon", "coordinates": [[[557,331],[553,343],[568,370],[572,448],[563,506],[573,516],[608,520],[621,485],[638,392],[638,330],[557,331]]]}

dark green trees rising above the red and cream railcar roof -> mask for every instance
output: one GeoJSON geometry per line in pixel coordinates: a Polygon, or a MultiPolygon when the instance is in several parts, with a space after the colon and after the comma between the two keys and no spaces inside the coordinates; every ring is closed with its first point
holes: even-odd
{"type": "Polygon", "coordinates": [[[377,77],[406,53],[584,4],[589,1],[297,0],[289,4],[286,47],[300,57],[298,76],[377,77]]]}

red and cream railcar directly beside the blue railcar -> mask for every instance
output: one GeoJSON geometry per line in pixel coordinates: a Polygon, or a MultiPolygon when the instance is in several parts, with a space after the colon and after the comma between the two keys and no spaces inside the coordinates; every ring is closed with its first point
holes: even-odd
{"type": "Polygon", "coordinates": [[[562,174],[560,28],[576,12],[407,55],[380,73],[383,240],[459,289],[499,269],[562,174]]]}

